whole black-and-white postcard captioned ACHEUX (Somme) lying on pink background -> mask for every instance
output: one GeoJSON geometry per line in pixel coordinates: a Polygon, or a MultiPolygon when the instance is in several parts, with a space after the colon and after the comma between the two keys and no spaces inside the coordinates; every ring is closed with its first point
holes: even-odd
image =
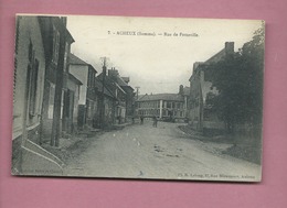
{"type": "Polygon", "coordinates": [[[261,182],[265,23],[15,17],[12,174],[261,182]]]}

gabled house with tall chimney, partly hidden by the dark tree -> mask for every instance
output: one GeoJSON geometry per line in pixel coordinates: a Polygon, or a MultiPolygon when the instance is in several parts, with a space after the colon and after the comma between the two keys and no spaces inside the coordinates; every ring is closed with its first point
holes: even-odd
{"type": "Polygon", "coordinates": [[[226,42],[225,47],[206,62],[193,64],[193,73],[190,77],[189,120],[190,124],[200,131],[204,129],[221,130],[224,123],[206,103],[206,100],[219,94],[212,86],[212,75],[206,69],[209,65],[224,59],[234,54],[234,43],[226,42]]]}

